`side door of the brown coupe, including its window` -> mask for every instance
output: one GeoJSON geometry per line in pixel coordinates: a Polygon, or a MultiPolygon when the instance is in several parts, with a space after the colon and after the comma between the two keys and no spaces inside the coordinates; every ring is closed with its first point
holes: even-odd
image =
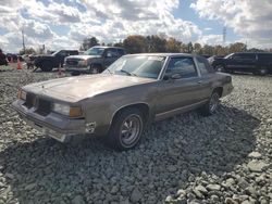
{"type": "Polygon", "coordinates": [[[199,82],[199,73],[191,56],[171,58],[164,79],[158,85],[157,114],[198,103],[201,100],[199,82]]]}

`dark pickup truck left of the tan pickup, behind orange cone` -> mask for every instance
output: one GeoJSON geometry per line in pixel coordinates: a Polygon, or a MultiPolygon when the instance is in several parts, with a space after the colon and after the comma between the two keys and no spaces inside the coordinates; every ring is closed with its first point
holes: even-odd
{"type": "Polygon", "coordinates": [[[54,67],[63,66],[66,56],[76,54],[78,54],[77,50],[60,50],[52,54],[37,55],[34,65],[44,72],[50,72],[54,67]]]}

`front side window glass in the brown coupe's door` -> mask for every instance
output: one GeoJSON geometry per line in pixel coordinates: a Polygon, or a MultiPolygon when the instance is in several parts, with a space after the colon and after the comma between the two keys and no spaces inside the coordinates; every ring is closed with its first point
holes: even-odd
{"type": "Polygon", "coordinates": [[[197,77],[197,69],[191,58],[173,58],[170,60],[165,75],[178,74],[181,78],[197,77]]]}

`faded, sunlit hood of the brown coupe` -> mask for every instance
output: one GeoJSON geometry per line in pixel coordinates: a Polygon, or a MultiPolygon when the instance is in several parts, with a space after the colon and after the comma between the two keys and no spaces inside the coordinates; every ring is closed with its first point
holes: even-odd
{"type": "Polygon", "coordinates": [[[156,81],[134,76],[98,74],[30,84],[23,90],[66,102],[78,102],[116,89],[156,81]]]}

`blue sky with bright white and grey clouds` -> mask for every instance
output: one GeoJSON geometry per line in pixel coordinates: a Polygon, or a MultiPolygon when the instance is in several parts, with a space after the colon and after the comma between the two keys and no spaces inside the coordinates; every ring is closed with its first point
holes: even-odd
{"type": "Polygon", "coordinates": [[[272,48],[272,0],[0,0],[0,48],[78,49],[86,37],[119,42],[161,35],[183,42],[272,48]]]}

